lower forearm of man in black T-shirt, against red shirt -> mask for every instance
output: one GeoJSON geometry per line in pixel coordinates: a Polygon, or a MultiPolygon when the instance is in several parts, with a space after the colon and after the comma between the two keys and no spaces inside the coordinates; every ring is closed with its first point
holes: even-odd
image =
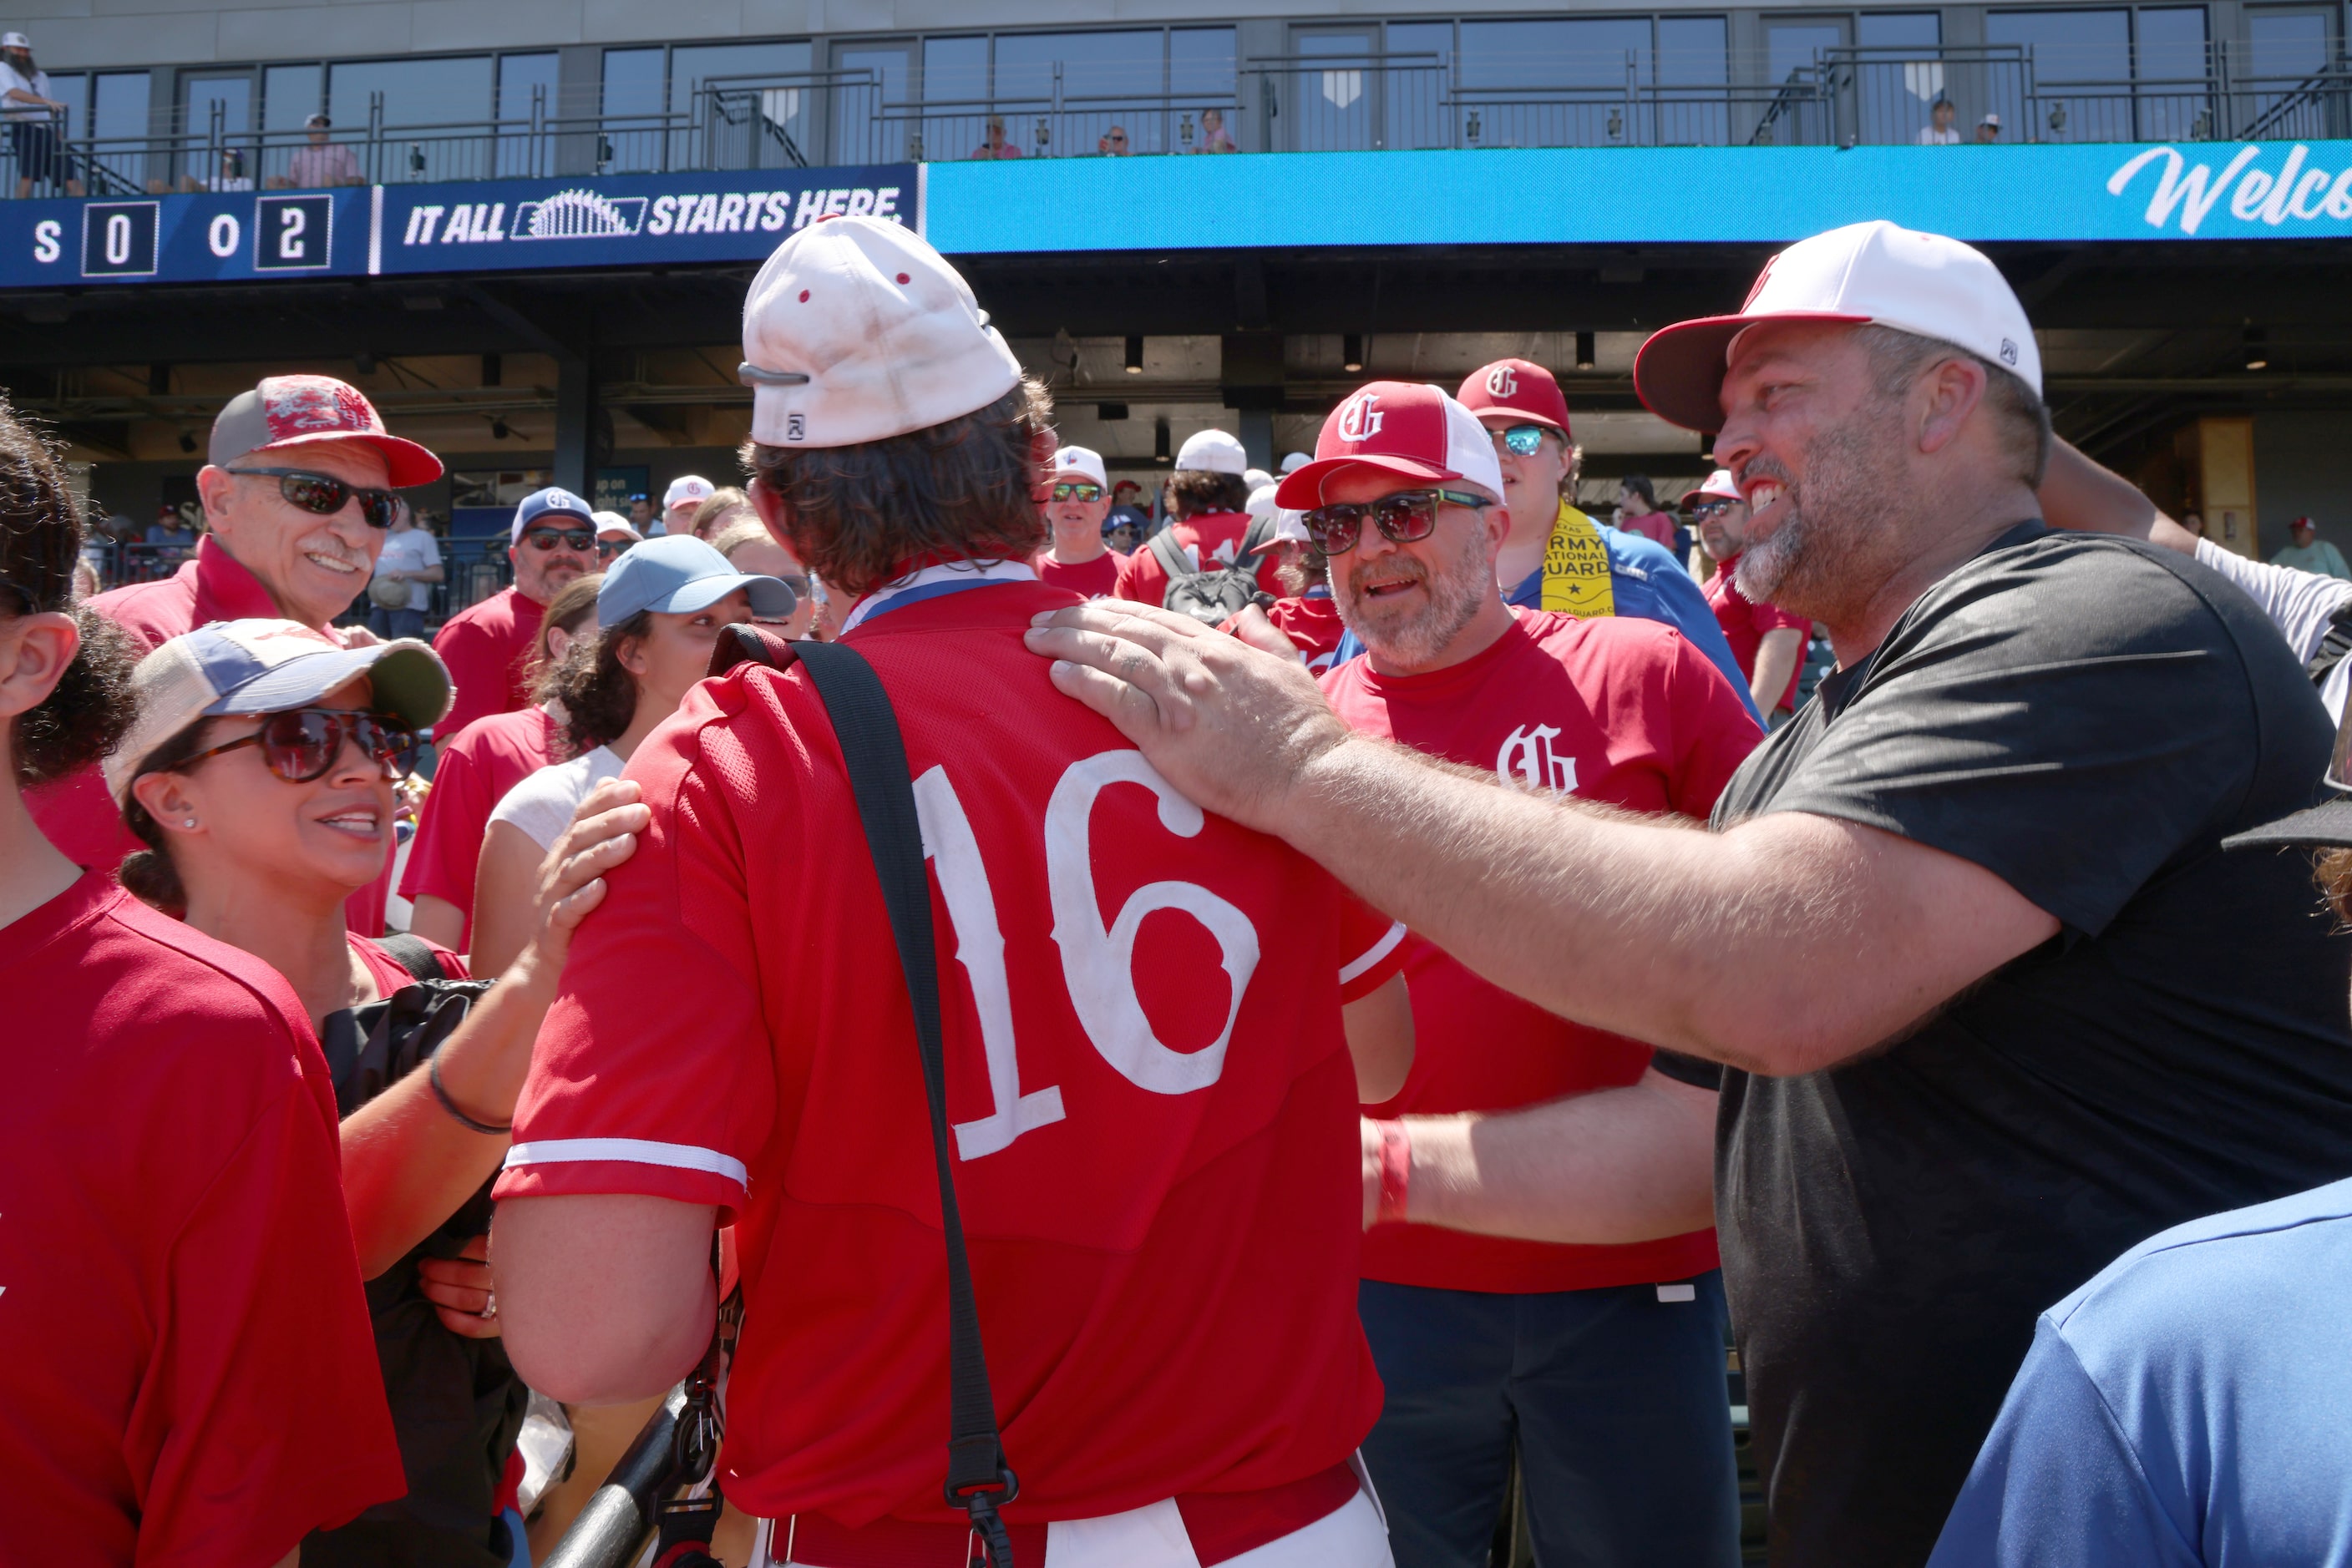
{"type": "Polygon", "coordinates": [[[1715,1225],[1712,1091],[1651,1072],[1512,1112],[1404,1121],[1414,1225],[1573,1246],[1715,1225]]]}

